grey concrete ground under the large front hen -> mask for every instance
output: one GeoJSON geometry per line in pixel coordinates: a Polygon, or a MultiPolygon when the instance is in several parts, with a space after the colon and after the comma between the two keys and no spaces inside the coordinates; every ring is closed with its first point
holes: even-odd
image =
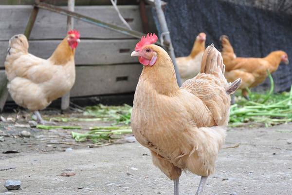
{"type": "MultiPolygon", "coordinates": [[[[3,154],[1,154],[3,155],[3,154]]],[[[139,143],[71,152],[21,153],[0,160],[0,183],[19,179],[16,195],[172,195],[173,183],[139,143]],[[74,176],[59,176],[75,173],[74,176]]],[[[194,195],[200,177],[186,173],[180,194],[194,195]]],[[[0,185],[0,194],[6,192],[0,185]]],[[[204,195],[292,195],[292,125],[228,131],[204,195]],[[238,147],[237,147],[238,146],[238,147]],[[235,195],[235,194],[234,194],[235,195]]]]}

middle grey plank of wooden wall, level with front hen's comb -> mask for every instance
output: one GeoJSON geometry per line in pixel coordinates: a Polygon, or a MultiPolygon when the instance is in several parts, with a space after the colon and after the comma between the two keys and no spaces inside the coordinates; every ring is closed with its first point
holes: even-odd
{"type": "MultiPolygon", "coordinates": [[[[60,40],[31,40],[29,52],[39,58],[47,59],[54,52],[60,40]]],[[[137,43],[136,39],[120,40],[88,40],[81,39],[75,54],[75,64],[121,64],[135,63],[137,58],[130,54],[137,43]]],[[[8,41],[0,41],[0,68],[4,67],[8,41]]]]}

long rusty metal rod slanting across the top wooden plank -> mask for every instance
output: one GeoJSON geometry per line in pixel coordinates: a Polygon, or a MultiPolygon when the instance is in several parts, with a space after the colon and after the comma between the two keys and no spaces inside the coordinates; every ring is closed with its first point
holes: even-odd
{"type": "Polygon", "coordinates": [[[71,16],[75,19],[82,20],[82,21],[85,21],[85,22],[88,22],[88,23],[91,23],[91,24],[94,24],[94,25],[97,25],[97,26],[100,26],[103,28],[107,28],[107,29],[122,33],[124,35],[138,38],[138,39],[140,39],[142,36],[145,35],[145,34],[140,33],[138,31],[129,30],[127,28],[123,28],[123,27],[116,26],[116,25],[113,25],[110,23],[106,23],[106,22],[103,22],[101,20],[93,19],[91,17],[72,12],[72,11],[57,7],[55,5],[50,5],[47,3],[39,2],[39,3],[36,3],[35,6],[37,6],[38,8],[42,8],[42,9],[50,10],[52,12],[63,14],[66,16],[71,16]]]}

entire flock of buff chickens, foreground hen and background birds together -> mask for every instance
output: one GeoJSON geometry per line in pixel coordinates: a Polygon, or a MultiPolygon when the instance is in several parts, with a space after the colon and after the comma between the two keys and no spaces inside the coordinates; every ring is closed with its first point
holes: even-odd
{"type": "MultiPolygon", "coordinates": [[[[28,53],[24,35],[9,40],[8,91],[18,105],[35,112],[39,123],[46,121],[38,110],[73,87],[79,38],[79,32],[68,32],[49,59],[28,53]]],[[[213,44],[205,49],[206,34],[200,33],[191,54],[177,58],[184,81],[179,87],[170,57],[154,44],[157,39],[155,34],[142,37],[131,53],[144,65],[134,96],[132,131],[150,149],[154,165],[174,181],[175,195],[183,170],[201,176],[196,193],[201,195],[225,140],[230,94],[241,88],[248,98],[245,88],[261,83],[266,70],[276,71],[281,61],[288,63],[288,56],[275,51],[262,59],[237,58],[227,36],[220,38],[220,53],[213,44]]]]}

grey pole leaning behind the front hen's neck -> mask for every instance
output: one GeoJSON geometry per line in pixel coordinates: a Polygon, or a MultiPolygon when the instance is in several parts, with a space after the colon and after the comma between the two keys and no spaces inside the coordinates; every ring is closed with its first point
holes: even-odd
{"type": "Polygon", "coordinates": [[[160,30],[162,31],[162,34],[160,36],[163,36],[164,38],[163,39],[164,42],[162,44],[165,46],[165,49],[172,60],[178,85],[181,86],[182,80],[180,77],[179,69],[176,64],[175,54],[174,54],[174,50],[171,44],[171,39],[170,39],[167,24],[166,24],[165,16],[161,7],[161,0],[154,0],[154,3],[155,3],[155,9],[157,13],[157,18],[158,18],[160,28],[161,28],[160,30]]]}

